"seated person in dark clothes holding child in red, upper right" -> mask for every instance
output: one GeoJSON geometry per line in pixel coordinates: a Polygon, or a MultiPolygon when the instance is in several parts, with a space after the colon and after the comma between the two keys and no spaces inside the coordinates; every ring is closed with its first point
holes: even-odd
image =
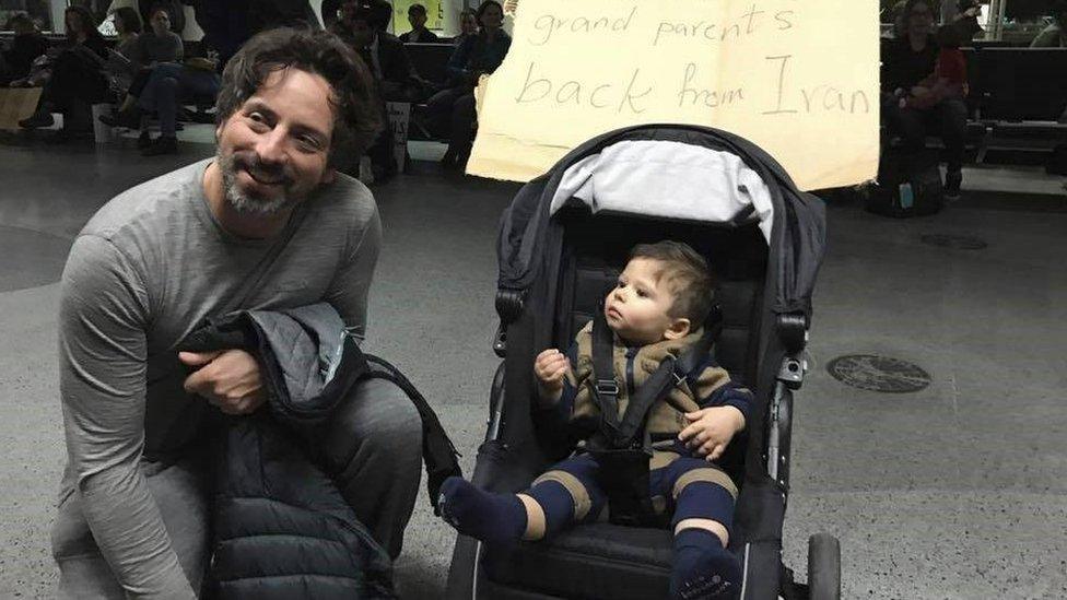
{"type": "Polygon", "coordinates": [[[889,42],[882,62],[882,115],[889,130],[903,138],[904,148],[921,152],[926,136],[937,133],[945,142],[948,173],[945,196],[959,198],[963,181],[963,143],[968,109],[962,97],[938,95],[929,106],[911,106],[901,99],[925,96],[921,83],[935,72],[940,47],[931,33],[934,13],[928,0],[907,0],[903,13],[903,35],[889,42]]]}

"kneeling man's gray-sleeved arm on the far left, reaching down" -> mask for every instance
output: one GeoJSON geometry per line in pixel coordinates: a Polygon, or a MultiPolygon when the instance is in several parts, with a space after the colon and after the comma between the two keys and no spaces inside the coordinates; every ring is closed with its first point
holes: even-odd
{"type": "Polygon", "coordinates": [[[67,454],[93,538],[130,598],[196,598],[144,474],[148,290],[83,235],[63,271],[59,367],[67,454]]]}

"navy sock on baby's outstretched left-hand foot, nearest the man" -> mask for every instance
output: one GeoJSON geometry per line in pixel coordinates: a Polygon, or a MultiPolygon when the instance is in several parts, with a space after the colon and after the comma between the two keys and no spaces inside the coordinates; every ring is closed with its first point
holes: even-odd
{"type": "Polygon", "coordinates": [[[526,532],[526,506],[515,494],[494,494],[462,478],[441,484],[441,516],[457,531],[492,544],[517,542],[526,532]]]}

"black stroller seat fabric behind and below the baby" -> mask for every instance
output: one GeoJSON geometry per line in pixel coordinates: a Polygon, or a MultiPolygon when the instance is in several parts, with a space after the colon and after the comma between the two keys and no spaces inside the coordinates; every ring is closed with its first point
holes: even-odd
{"type": "MultiPolygon", "coordinates": [[[[563,334],[559,348],[565,349],[593,318],[633,245],[676,239],[700,251],[716,274],[715,298],[723,313],[723,330],[714,348],[716,361],[732,379],[753,380],[755,345],[749,340],[755,338],[752,329],[759,323],[766,266],[766,243],[754,224],[724,228],[624,215],[593,217],[586,209],[565,209],[556,217],[566,232],[565,260],[570,263],[561,268],[561,277],[567,280],[561,286],[572,291],[560,293],[561,305],[570,306],[570,321],[560,323],[563,334]]],[[[561,313],[566,310],[561,308],[561,313]]],[[[739,484],[743,481],[741,446],[743,439],[734,444],[728,459],[728,472],[739,484]]],[[[574,527],[549,542],[493,548],[483,561],[491,581],[541,593],[628,598],[633,590],[661,588],[660,593],[650,596],[661,598],[667,595],[670,577],[671,544],[666,529],[597,522],[574,527]]],[[[506,589],[494,589],[488,597],[511,596],[506,589]]]]}

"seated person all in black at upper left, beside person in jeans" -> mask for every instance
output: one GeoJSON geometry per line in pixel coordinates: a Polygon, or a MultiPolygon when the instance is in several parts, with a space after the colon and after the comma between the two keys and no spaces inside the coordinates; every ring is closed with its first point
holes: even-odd
{"type": "MultiPolygon", "coordinates": [[[[108,83],[104,75],[107,44],[96,31],[93,14],[84,7],[68,7],[63,20],[70,45],[56,57],[37,110],[19,121],[24,129],[51,127],[55,122],[52,113],[65,113],[69,117],[75,103],[92,105],[107,98],[108,83]]],[[[71,120],[65,119],[59,139],[73,133],[71,120]]]]}

